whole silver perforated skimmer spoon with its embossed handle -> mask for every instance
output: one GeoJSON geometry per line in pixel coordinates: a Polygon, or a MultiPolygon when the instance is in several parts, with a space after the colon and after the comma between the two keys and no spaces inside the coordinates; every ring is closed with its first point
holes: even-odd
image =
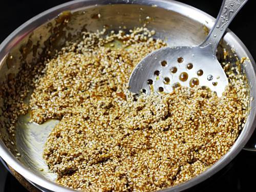
{"type": "Polygon", "coordinates": [[[202,44],[162,48],[144,57],[131,74],[130,91],[139,93],[143,90],[147,94],[170,93],[177,83],[181,86],[193,87],[194,78],[196,79],[194,82],[200,86],[206,86],[215,91],[219,97],[222,96],[228,85],[228,79],[216,57],[217,46],[234,16],[247,1],[224,0],[214,27],[202,44]],[[182,58],[182,62],[179,62],[178,58],[182,58]],[[161,65],[162,62],[164,66],[161,65]],[[188,69],[188,63],[193,68],[188,69]],[[171,69],[174,68],[177,72],[172,73],[171,69]],[[199,70],[203,71],[202,75],[197,74],[199,70]],[[156,75],[156,72],[160,74],[156,75]],[[188,76],[186,80],[180,78],[182,73],[188,76]],[[148,80],[153,80],[153,87],[147,83],[148,80]]]}

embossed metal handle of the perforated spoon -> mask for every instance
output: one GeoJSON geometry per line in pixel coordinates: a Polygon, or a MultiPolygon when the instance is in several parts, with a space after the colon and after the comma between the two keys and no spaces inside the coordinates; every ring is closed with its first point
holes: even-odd
{"type": "Polygon", "coordinates": [[[200,47],[205,47],[210,44],[212,46],[212,53],[214,56],[216,56],[217,46],[219,45],[223,34],[233,18],[247,1],[248,0],[223,0],[214,27],[212,27],[208,36],[206,37],[205,41],[202,42],[200,47]]]}

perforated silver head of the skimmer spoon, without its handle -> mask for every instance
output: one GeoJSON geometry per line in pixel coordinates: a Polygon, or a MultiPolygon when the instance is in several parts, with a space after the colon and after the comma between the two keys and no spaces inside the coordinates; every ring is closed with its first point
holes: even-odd
{"type": "Polygon", "coordinates": [[[147,55],[135,68],[129,87],[133,93],[170,93],[177,86],[205,86],[221,96],[228,79],[211,46],[166,47],[147,55]]]}

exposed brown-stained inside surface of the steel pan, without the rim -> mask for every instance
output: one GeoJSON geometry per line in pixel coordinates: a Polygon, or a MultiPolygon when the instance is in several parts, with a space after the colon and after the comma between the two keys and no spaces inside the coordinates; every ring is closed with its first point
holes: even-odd
{"type": "MultiPolygon", "coordinates": [[[[20,63],[37,62],[37,59],[47,45],[45,42],[52,37],[55,27],[64,32],[55,45],[55,48],[58,49],[67,39],[76,38],[77,35],[79,35],[79,31],[82,30],[96,31],[103,29],[103,26],[106,26],[108,31],[118,31],[120,28],[123,29],[123,26],[129,30],[134,27],[143,26],[144,24],[146,24],[148,29],[156,30],[156,38],[164,39],[168,46],[191,46],[197,45],[204,40],[207,34],[206,26],[212,24],[212,21],[207,16],[205,19],[200,18],[200,20],[194,20],[187,15],[178,13],[178,11],[170,11],[155,6],[104,5],[83,8],[79,11],[72,12],[70,21],[66,26],[61,27],[56,19],[52,19],[19,41],[11,52],[6,55],[1,65],[1,73],[6,74],[4,77],[1,77],[1,81],[5,81],[10,73],[17,74],[20,70],[20,63]],[[100,14],[100,17],[95,18],[95,14],[100,14]],[[34,54],[31,49],[26,57],[24,57],[20,52],[20,47],[28,45],[30,41],[32,45],[37,46],[36,54],[34,54]],[[14,56],[15,60],[11,68],[8,67],[8,56],[10,55],[14,56]]],[[[223,49],[225,49],[230,56],[234,55],[232,42],[228,44],[225,41],[222,42],[218,52],[219,57],[223,56],[223,49]]],[[[238,55],[238,58],[243,56],[244,55],[238,55]]],[[[234,59],[234,57],[227,59],[232,65],[236,65],[237,60],[234,59]]],[[[248,65],[247,62],[249,63],[249,61],[245,62],[245,67],[248,65]]],[[[3,99],[2,97],[1,104],[3,104],[3,99]]],[[[27,102],[29,102],[29,97],[27,98],[27,102]]],[[[3,111],[1,111],[1,114],[2,113],[3,111]]],[[[14,156],[17,156],[15,150],[20,153],[20,156],[17,158],[30,170],[49,180],[55,180],[56,175],[49,172],[48,166],[42,159],[42,151],[49,133],[58,123],[58,120],[49,120],[39,125],[29,122],[29,118],[30,114],[20,116],[16,123],[16,145],[13,146],[10,143],[12,140],[11,136],[6,128],[1,126],[0,132],[2,139],[14,156]]]]}

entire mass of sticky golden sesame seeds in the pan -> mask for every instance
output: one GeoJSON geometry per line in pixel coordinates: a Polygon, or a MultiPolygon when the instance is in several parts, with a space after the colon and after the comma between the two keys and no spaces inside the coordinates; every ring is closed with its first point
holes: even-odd
{"type": "Polygon", "coordinates": [[[127,91],[137,63],[166,46],[154,34],[83,32],[33,80],[31,121],[60,120],[43,154],[57,183],[84,191],[159,190],[199,175],[236,141],[249,98],[245,76],[228,64],[221,98],[200,87],[138,98],[127,91]]]}

